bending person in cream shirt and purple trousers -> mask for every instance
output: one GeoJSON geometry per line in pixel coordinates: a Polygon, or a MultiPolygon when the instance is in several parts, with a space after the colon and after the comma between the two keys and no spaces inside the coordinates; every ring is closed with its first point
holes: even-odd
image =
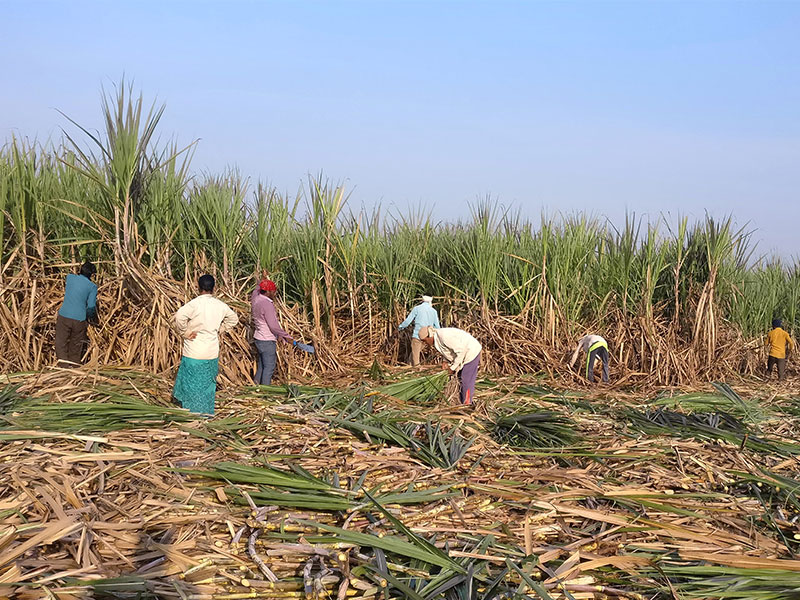
{"type": "Polygon", "coordinates": [[[478,366],[481,364],[481,344],[462,329],[445,327],[423,327],[419,337],[428,346],[434,346],[439,353],[450,361],[442,365],[448,369],[450,375],[458,373],[461,384],[461,404],[472,404],[475,396],[475,379],[478,376],[478,366]]]}

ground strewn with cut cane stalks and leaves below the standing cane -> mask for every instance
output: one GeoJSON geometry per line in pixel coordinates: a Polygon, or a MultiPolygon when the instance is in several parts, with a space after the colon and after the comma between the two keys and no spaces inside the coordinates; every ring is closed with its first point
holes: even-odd
{"type": "Polygon", "coordinates": [[[3,376],[0,595],[800,598],[792,385],[170,384],[3,376]]]}

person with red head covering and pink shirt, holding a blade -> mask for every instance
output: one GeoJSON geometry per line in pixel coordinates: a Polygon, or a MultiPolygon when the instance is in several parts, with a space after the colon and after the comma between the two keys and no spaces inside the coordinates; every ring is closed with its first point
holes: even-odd
{"type": "Polygon", "coordinates": [[[278,322],[278,312],[275,309],[275,298],[278,288],[274,281],[262,279],[252,296],[250,307],[253,315],[255,333],[253,340],[258,350],[258,364],[253,382],[256,385],[269,385],[272,383],[272,374],[278,361],[278,340],[293,342],[278,322]]]}

